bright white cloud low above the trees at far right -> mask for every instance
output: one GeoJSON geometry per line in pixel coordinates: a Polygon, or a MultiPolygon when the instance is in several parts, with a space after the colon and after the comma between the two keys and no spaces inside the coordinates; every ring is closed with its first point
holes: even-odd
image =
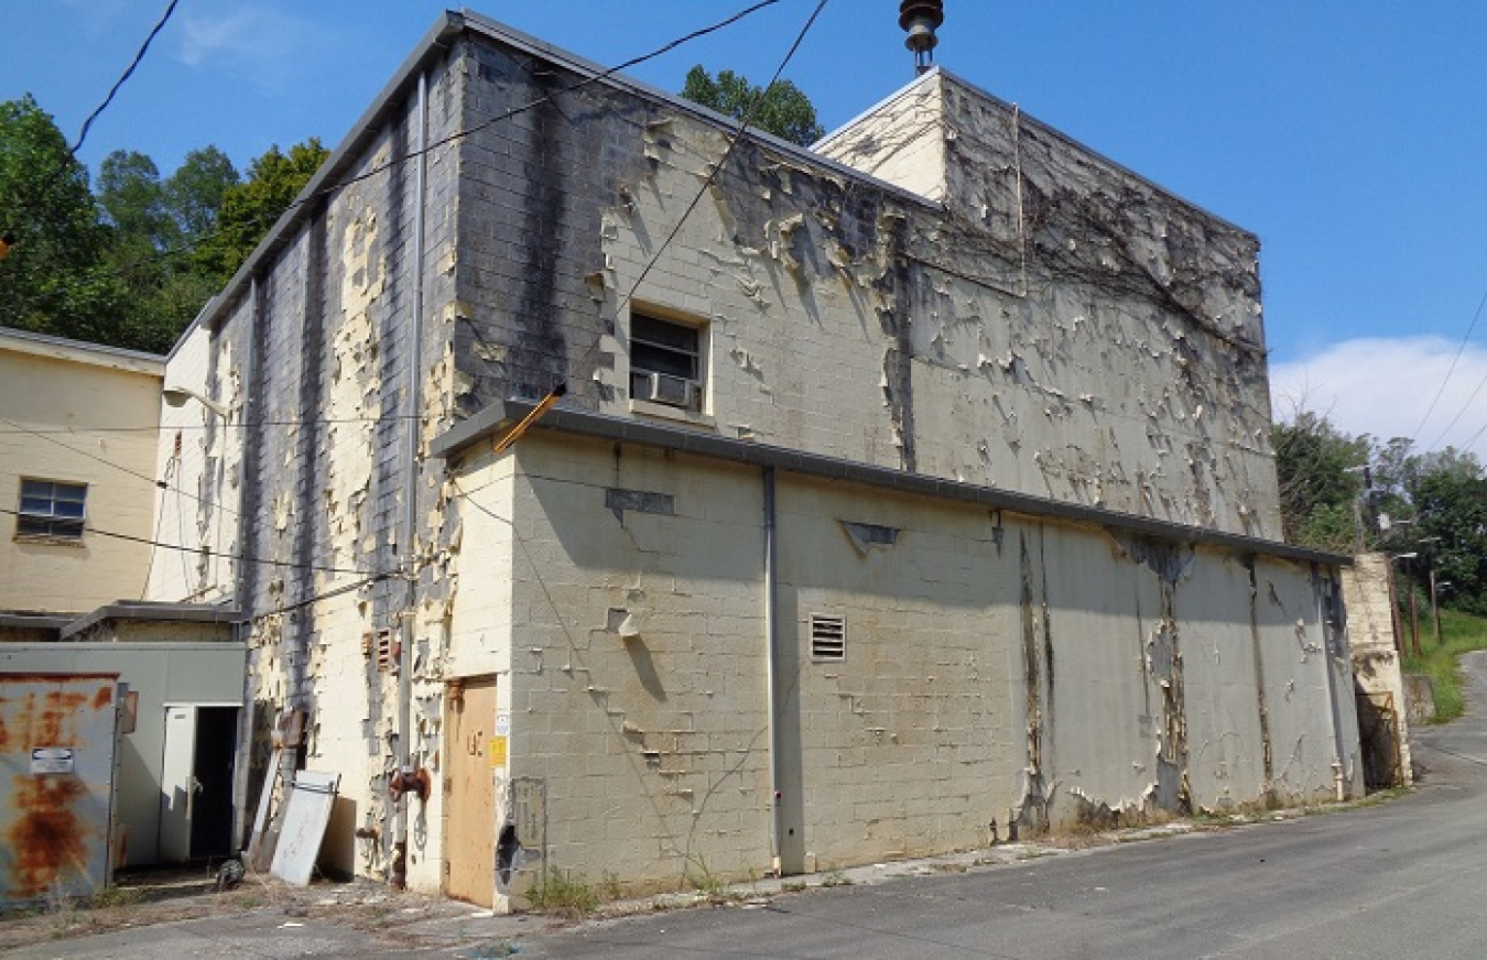
{"type": "Polygon", "coordinates": [[[1487,349],[1474,343],[1462,349],[1436,336],[1344,340],[1273,364],[1270,397],[1279,421],[1310,410],[1344,434],[1414,437],[1416,450],[1487,450],[1487,349]]]}

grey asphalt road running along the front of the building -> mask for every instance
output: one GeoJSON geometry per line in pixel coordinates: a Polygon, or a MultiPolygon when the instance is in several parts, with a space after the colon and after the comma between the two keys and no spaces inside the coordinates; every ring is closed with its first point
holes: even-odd
{"type": "Polygon", "coordinates": [[[586,924],[523,957],[1487,957],[1487,654],[1375,807],[586,924]]]}

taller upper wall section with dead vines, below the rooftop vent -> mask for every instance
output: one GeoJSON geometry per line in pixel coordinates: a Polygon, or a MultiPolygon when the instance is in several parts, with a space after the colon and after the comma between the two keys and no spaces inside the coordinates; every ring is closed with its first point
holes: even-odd
{"type": "Polygon", "coordinates": [[[1280,536],[1252,235],[941,71],[818,149],[944,204],[900,253],[922,471],[1280,536]]]}

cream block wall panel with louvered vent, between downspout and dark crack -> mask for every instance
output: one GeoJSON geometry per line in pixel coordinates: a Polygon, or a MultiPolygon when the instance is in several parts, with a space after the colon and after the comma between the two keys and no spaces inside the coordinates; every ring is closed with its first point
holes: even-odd
{"type": "Polygon", "coordinates": [[[781,624],[800,740],[787,810],[806,869],[1007,838],[1022,786],[1014,713],[1017,554],[996,514],[882,490],[779,481],[781,624]],[[842,522],[894,531],[858,547],[842,522]],[[1001,545],[999,545],[1001,541],[1001,545]],[[842,617],[842,660],[813,655],[818,614],[842,617]],[[799,805],[799,810],[796,807],[799,805]]]}

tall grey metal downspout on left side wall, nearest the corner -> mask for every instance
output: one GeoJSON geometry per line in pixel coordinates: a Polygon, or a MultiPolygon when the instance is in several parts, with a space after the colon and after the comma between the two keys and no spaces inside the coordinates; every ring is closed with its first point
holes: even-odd
{"type": "MultiPolygon", "coordinates": [[[[424,204],[425,178],[428,172],[428,71],[418,74],[418,143],[413,166],[413,315],[407,330],[407,385],[404,389],[403,422],[403,575],[407,578],[407,593],[403,603],[400,635],[403,648],[397,664],[397,773],[413,770],[413,620],[418,609],[418,562],[413,542],[418,536],[418,440],[422,432],[422,340],[424,340],[424,204]]],[[[394,887],[407,884],[407,805],[409,792],[397,801],[396,841],[393,844],[393,871],[390,883],[394,887]]]]}

